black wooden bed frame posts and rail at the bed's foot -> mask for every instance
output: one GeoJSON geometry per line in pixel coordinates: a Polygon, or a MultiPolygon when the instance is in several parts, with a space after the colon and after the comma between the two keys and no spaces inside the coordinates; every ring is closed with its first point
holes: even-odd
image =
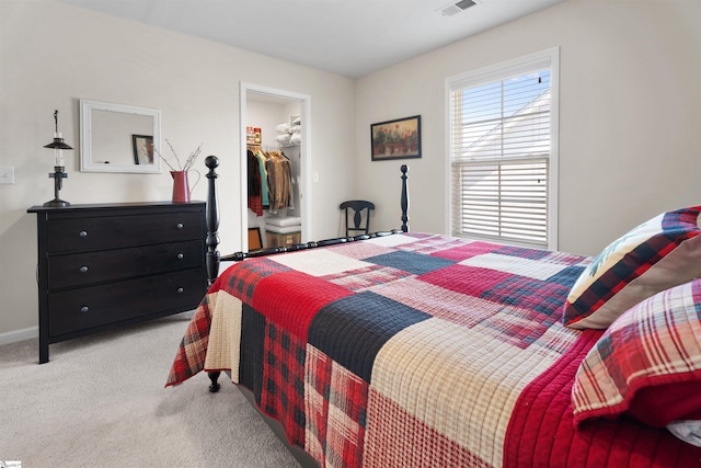
{"type": "MultiPolygon", "coordinates": [[[[211,286],[211,284],[219,276],[219,265],[222,261],[228,262],[240,262],[245,259],[252,259],[256,256],[265,256],[273,255],[276,253],[283,252],[296,252],[299,250],[308,250],[315,249],[318,247],[326,247],[334,246],[337,243],[345,242],[354,242],[356,240],[365,240],[372,239],[377,237],[390,236],[398,232],[409,232],[409,192],[407,192],[407,179],[406,172],[409,172],[409,167],[406,164],[402,164],[400,168],[402,175],[402,194],[400,198],[400,205],[402,208],[402,227],[400,229],[392,229],[390,231],[378,231],[371,232],[368,235],[360,236],[352,236],[352,237],[338,237],[334,239],[324,239],[319,241],[311,241],[307,243],[295,243],[291,246],[281,246],[281,247],[271,247],[267,249],[258,249],[251,252],[235,252],[230,255],[221,256],[217,247],[219,246],[219,199],[217,196],[217,174],[216,169],[219,167],[219,158],[216,156],[208,156],[205,158],[205,165],[209,169],[206,174],[207,178],[207,206],[205,209],[206,222],[207,222],[207,239],[205,243],[207,244],[207,253],[206,253],[206,267],[207,267],[207,282],[211,286]]],[[[210,372],[208,373],[209,379],[211,380],[211,385],[209,386],[209,391],[216,392],[219,390],[220,386],[217,383],[219,379],[219,372],[210,372]]]]}

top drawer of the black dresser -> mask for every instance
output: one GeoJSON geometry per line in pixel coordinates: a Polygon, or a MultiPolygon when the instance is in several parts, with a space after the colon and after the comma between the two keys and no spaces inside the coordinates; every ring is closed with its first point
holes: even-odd
{"type": "Polygon", "coordinates": [[[198,212],[49,219],[49,253],[148,246],[202,239],[198,212]]]}

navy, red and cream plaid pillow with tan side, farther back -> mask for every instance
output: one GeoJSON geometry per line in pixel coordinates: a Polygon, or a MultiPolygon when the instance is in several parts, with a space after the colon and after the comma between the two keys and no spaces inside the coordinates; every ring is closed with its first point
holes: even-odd
{"type": "Polygon", "coordinates": [[[563,322],[606,329],[655,293],[701,276],[701,206],[663,213],[617,239],[582,272],[563,322]]]}

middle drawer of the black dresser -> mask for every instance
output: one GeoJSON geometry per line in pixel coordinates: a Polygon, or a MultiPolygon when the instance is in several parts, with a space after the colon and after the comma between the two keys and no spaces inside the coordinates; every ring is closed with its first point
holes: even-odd
{"type": "Polygon", "coordinates": [[[200,240],[51,255],[48,287],[60,289],[200,266],[200,240]]]}

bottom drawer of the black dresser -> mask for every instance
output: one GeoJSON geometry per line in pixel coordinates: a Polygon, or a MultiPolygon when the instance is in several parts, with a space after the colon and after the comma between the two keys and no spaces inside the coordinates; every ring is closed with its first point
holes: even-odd
{"type": "Polygon", "coordinates": [[[202,269],[48,294],[48,334],[60,336],[165,310],[197,307],[206,293],[202,269]]]}

